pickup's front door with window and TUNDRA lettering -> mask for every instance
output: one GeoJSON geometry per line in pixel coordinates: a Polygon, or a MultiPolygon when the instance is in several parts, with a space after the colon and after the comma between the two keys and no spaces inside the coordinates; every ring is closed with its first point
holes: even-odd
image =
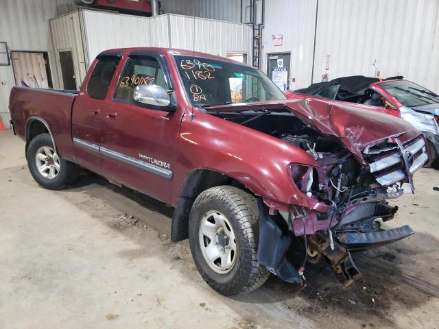
{"type": "Polygon", "coordinates": [[[134,51],[122,70],[104,113],[102,174],[170,203],[182,114],[134,101],[134,88],[141,84],[171,93],[167,64],[158,53],[134,51]]]}

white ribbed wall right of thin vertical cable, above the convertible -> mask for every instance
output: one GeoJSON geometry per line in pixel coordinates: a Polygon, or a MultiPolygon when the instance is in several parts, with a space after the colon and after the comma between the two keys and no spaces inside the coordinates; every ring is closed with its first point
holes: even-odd
{"type": "Polygon", "coordinates": [[[436,0],[320,1],[314,82],[329,55],[330,79],[379,71],[439,92],[438,11],[436,0]]]}

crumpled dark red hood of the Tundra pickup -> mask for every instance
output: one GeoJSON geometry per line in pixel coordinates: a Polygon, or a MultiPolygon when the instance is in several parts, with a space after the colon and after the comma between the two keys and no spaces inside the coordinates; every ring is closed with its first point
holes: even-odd
{"type": "Polygon", "coordinates": [[[322,134],[340,138],[342,143],[363,162],[361,149],[386,138],[408,132],[411,138],[421,134],[409,122],[389,114],[375,112],[363,106],[318,99],[288,99],[231,104],[207,108],[215,112],[286,109],[322,134]]]}

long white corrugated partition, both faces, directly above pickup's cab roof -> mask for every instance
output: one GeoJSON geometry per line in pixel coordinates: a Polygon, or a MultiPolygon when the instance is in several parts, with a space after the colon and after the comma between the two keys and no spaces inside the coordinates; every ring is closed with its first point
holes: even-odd
{"type": "Polygon", "coordinates": [[[99,52],[117,47],[195,47],[195,51],[220,56],[228,51],[251,54],[249,25],[174,14],[147,18],[95,10],[81,12],[88,63],[99,52]]]}

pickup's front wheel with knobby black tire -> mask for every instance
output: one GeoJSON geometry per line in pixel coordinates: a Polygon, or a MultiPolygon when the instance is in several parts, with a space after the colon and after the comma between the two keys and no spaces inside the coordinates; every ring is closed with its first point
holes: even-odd
{"type": "MultiPolygon", "coordinates": [[[[252,195],[233,186],[209,188],[198,195],[193,203],[189,217],[189,244],[192,257],[204,281],[222,295],[236,295],[253,291],[261,287],[270,276],[270,272],[257,262],[258,216],[257,200],[252,195]],[[209,218],[209,216],[211,217],[209,218]],[[209,221],[208,226],[204,226],[206,221],[209,221]],[[218,238],[218,236],[222,236],[223,233],[215,234],[215,241],[217,243],[219,241],[219,244],[214,243],[207,235],[200,234],[201,228],[206,227],[210,230],[213,222],[217,225],[220,221],[227,223],[224,232],[228,234],[226,240],[229,247],[222,248],[222,245],[225,244],[224,239],[218,238]],[[232,239],[236,243],[232,243],[232,239]],[[214,245],[210,243],[214,243],[214,245]],[[216,263],[209,261],[207,259],[209,257],[205,256],[209,254],[209,250],[213,250],[209,247],[219,248],[220,254],[221,249],[230,252],[235,247],[235,252],[230,252],[234,259],[233,265],[224,271],[219,269],[217,264],[220,263],[224,269],[228,261],[225,261],[224,265],[222,258],[217,258],[216,263]],[[219,271],[222,272],[219,273],[219,271]]],[[[215,256],[211,258],[215,258],[215,256]]]]}

